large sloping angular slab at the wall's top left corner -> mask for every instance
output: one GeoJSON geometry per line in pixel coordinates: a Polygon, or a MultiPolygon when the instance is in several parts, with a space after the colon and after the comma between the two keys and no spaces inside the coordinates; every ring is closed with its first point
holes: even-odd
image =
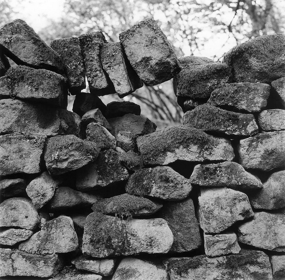
{"type": "Polygon", "coordinates": [[[18,65],[64,72],[59,55],[24,20],[14,20],[0,29],[0,45],[18,65]]]}

